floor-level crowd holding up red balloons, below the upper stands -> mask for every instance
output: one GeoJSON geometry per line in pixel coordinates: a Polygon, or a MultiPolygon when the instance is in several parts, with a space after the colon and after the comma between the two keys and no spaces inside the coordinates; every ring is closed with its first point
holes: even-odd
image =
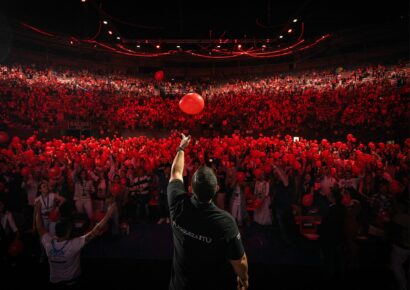
{"type": "MultiPolygon", "coordinates": [[[[26,229],[40,200],[50,233],[61,216],[83,215],[93,225],[113,200],[118,205],[114,233],[154,216],[159,223],[169,222],[166,186],[175,139],[13,137],[0,151],[1,200],[18,227],[26,229]]],[[[355,208],[348,211],[354,215],[350,238],[383,230],[397,204],[408,202],[410,139],[363,144],[351,134],[334,143],[289,135],[232,135],[192,143],[186,152],[185,184],[201,164],[211,166],[220,184],[215,203],[240,226],[279,223],[285,240],[289,217],[313,214],[325,220],[336,200],[355,208]]],[[[14,222],[9,225],[10,234],[16,232],[14,222]]]]}

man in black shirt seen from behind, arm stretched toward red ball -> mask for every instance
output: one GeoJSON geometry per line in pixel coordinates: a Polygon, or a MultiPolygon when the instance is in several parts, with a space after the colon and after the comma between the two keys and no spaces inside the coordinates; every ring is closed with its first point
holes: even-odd
{"type": "Polygon", "coordinates": [[[202,166],[192,176],[191,198],[185,191],[184,149],[190,140],[182,134],[168,184],[174,236],[169,289],[220,289],[221,266],[228,259],[237,275],[238,289],[245,290],[249,285],[248,261],[241,235],[232,216],[212,202],[218,191],[212,169],[202,166]]]}

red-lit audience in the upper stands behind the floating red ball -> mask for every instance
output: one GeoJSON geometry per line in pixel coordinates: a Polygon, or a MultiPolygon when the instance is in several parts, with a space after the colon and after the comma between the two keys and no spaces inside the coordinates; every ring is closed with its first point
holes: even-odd
{"type": "Polygon", "coordinates": [[[2,119],[40,131],[65,128],[70,118],[92,123],[102,135],[121,129],[334,130],[405,128],[409,118],[408,68],[369,66],[352,71],[316,71],[248,80],[161,81],[119,74],[0,67],[2,119]],[[206,110],[179,114],[178,100],[200,93],[206,110]]]}

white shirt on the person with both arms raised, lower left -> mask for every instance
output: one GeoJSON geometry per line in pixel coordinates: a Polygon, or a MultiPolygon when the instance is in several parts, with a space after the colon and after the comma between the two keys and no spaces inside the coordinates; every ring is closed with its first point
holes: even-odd
{"type": "Polygon", "coordinates": [[[51,283],[70,281],[80,276],[80,254],[85,245],[85,236],[59,242],[47,233],[41,243],[50,264],[51,283]]]}

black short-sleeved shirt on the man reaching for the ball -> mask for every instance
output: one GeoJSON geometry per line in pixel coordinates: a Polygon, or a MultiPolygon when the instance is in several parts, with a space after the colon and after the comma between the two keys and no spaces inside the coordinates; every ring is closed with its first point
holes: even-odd
{"type": "Polygon", "coordinates": [[[169,289],[219,289],[227,259],[244,254],[234,219],[214,203],[190,198],[180,180],[168,184],[168,203],[174,237],[169,289]]]}

